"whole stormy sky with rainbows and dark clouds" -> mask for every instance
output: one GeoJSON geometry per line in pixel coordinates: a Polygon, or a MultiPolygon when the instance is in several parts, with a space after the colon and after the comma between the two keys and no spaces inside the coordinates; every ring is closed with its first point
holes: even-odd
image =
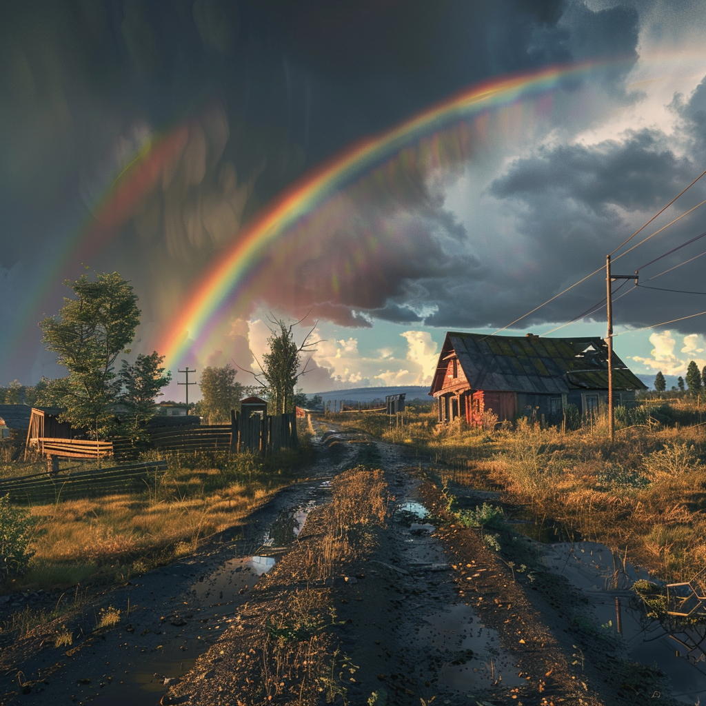
{"type": "MultiPolygon", "coordinates": [[[[604,336],[602,272],[552,297],[706,169],[698,0],[0,13],[0,385],[66,373],[37,323],[84,266],[130,280],[126,357],[164,354],[174,399],[185,366],[252,383],[280,319],[319,341],[307,392],[426,385],[447,330],[604,336]]],[[[705,200],[613,256],[647,380],[706,365],[705,200]]]]}

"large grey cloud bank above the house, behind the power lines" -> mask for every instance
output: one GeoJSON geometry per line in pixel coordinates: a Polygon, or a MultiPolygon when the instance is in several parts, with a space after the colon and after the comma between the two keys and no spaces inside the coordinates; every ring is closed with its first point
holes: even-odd
{"type": "MultiPolygon", "coordinates": [[[[704,135],[700,121],[703,83],[680,107],[683,129],[694,139],[704,135]]],[[[502,268],[481,268],[478,277],[448,277],[426,282],[427,301],[438,311],[426,323],[449,327],[501,327],[553,297],[592,270],[601,267],[605,254],[642,225],[659,208],[698,176],[702,167],[690,157],[674,152],[674,143],[663,133],[643,130],[621,140],[597,145],[558,145],[542,148],[515,160],[489,187],[498,208],[515,217],[517,237],[505,253],[502,268]]],[[[705,188],[696,186],[676,207],[638,239],[657,230],[699,203],[705,188]]],[[[686,217],[645,246],[628,253],[614,265],[614,273],[636,268],[703,232],[700,211],[686,217]]],[[[645,285],[666,289],[702,291],[702,268],[686,265],[674,273],[647,282],[703,250],[702,241],[640,270],[645,285]]],[[[617,253],[616,258],[620,253],[617,253]]],[[[614,289],[621,282],[614,285],[614,289]]],[[[537,313],[522,320],[533,323],[568,321],[584,313],[604,297],[604,277],[595,275],[537,313]]],[[[621,289],[628,292],[632,283],[621,289]]],[[[642,326],[686,316],[703,309],[702,298],[637,289],[616,302],[618,321],[642,326]]],[[[605,310],[591,317],[602,321],[605,310]]],[[[698,319],[690,331],[704,330],[698,319]]],[[[676,325],[678,328],[678,324],[676,325]]]]}

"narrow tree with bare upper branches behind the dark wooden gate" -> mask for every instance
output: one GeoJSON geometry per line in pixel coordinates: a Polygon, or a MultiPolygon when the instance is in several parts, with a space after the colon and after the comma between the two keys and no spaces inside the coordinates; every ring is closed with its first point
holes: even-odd
{"type": "Polygon", "coordinates": [[[316,342],[308,342],[316,324],[304,337],[304,342],[297,345],[293,329],[297,323],[300,323],[299,321],[290,325],[281,320],[273,323],[279,330],[270,329],[272,335],[267,340],[270,351],[263,355],[260,369],[264,378],[263,386],[267,389],[268,401],[273,403],[273,412],[285,414],[285,412],[294,411],[294,385],[297,385],[299,376],[306,373],[306,366],[299,372],[301,354],[311,352],[311,347],[316,345],[316,342]]]}

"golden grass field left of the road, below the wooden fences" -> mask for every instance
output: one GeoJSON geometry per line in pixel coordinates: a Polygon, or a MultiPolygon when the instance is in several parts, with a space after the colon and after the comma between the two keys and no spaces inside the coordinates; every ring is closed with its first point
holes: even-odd
{"type": "MultiPolygon", "coordinates": [[[[196,551],[210,535],[237,526],[305,473],[312,449],[306,433],[300,438],[297,450],[268,460],[247,453],[162,455],[167,471],[145,483],[142,492],[28,508],[34,520],[32,558],[23,575],[7,580],[4,592],[125,582],[196,551]]],[[[0,456],[0,477],[41,470],[37,464],[11,462],[10,455],[5,449],[0,456]]]]}

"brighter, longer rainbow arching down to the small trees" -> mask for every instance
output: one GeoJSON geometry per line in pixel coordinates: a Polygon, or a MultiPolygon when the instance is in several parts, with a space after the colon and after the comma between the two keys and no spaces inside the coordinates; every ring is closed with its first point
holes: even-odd
{"type": "MultiPolygon", "coordinates": [[[[246,301],[252,301],[254,280],[263,267],[269,246],[362,175],[395,155],[404,159],[410,145],[429,136],[433,141],[433,136],[453,124],[527,95],[549,91],[563,79],[579,78],[620,63],[615,59],[590,61],[494,78],[462,90],[388,131],[350,145],[295,181],[238,234],[229,249],[218,253],[215,263],[193,287],[179,316],[162,333],[155,348],[164,353],[167,366],[179,364],[226,304],[234,303],[234,310],[238,311],[246,301]]],[[[630,63],[626,59],[626,64],[630,63]]]]}

